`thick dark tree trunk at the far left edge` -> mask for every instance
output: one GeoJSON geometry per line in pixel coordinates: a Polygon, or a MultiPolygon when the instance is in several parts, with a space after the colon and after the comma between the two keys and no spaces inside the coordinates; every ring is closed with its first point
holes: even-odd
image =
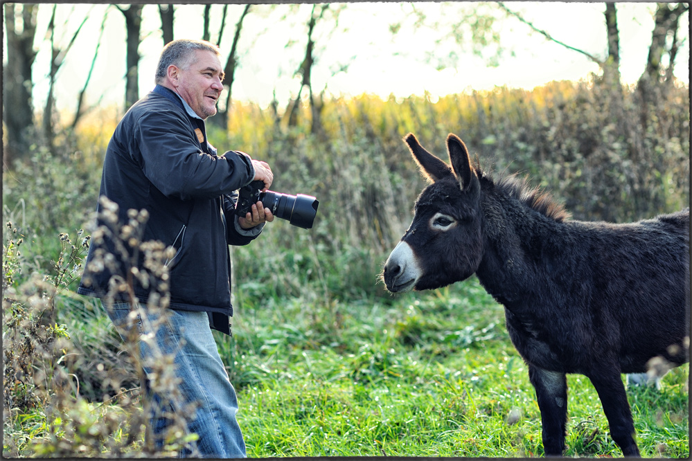
{"type": "Polygon", "coordinates": [[[38,5],[5,3],[3,7],[8,60],[3,67],[3,121],[7,134],[3,166],[7,167],[12,160],[28,156],[28,147],[33,142],[30,135],[33,127],[31,66],[36,57],[33,44],[38,5]],[[15,26],[16,15],[21,15],[21,28],[15,26]]]}

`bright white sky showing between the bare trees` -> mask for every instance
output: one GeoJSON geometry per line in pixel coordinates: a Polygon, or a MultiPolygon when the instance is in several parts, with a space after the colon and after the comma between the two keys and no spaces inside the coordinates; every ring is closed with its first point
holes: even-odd
{"type": "MultiPolygon", "coordinates": [[[[553,37],[583,49],[592,55],[605,57],[607,41],[603,11],[605,3],[534,3],[508,2],[506,5],[520,12],[525,19],[549,32],[553,37]]],[[[360,95],[372,93],[382,98],[393,94],[403,98],[426,91],[433,98],[462,91],[492,89],[495,86],[531,89],[551,80],[580,80],[597,72],[598,66],[587,57],[549,42],[517,19],[507,17],[497,6],[499,45],[505,53],[498,66],[474,56],[468,47],[452,42],[436,43],[445,31],[416,27],[411,13],[414,8],[425,12],[431,19],[445,21],[454,17],[457,3],[441,6],[438,3],[349,3],[339,16],[338,26],[333,21],[318,23],[314,33],[317,42],[317,62],[312,73],[313,88],[326,88],[332,95],[360,95]],[[441,9],[442,8],[442,9],[441,9]],[[441,13],[442,12],[442,13],[441,13]],[[440,15],[442,18],[440,19],[440,15]],[[389,25],[402,22],[397,35],[391,35],[389,25]],[[450,51],[459,55],[453,67],[437,69],[438,60],[429,55],[444,57],[450,51]],[[335,72],[348,64],[346,71],[335,72]]],[[[51,5],[39,7],[37,42],[40,49],[34,65],[35,106],[44,104],[48,89],[49,51],[42,39],[48,24],[51,5]]],[[[82,88],[98,41],[105,4],[60,4],[56,24],[56,39],[66,44],[73,30],[89,12],[89,19],[78,36],[73,49],[57,76],[57,105],[73,111],[76,95],[82,88]],[[67,22],[67,19],[70,19],[67,22]]],[[[202,8],[200,5],[176,5],[175,38],[202,36],[202,8]]],[[[225,62],[230,51],[231,38],[243,6],[229,6],[227,26],[224,30],[222,51],[225,62]]],[[[312,5],[294,6],[287,19],[290,5],[254,6],[242,28],[239,45],[240,69],[233,83],[233,99],[254,101],[267,105],[276,93],[281,106],[294,96],[300,78],[294,71],[305,53],[305,23],[312,5]],[[295,42],[287,47],[289,42],[295,42]]],[[[465,8],[470,8],[468,3],[465,8]]],[[[648,46],[653,30],[655,3],[618,3],[618,26],[621,44],[621,73],[623,81],[634,83],[644,71],[648,46]]],[[[222,5],[212,7],[211,40],[216,40],[220,26],[222,5]]],[[[486,7],[488,11],[488,7],[486,7]]],[[[163,41],[160,32],[157,5],[143,9],[143,41],[139,48],[141,61],[140,94],[154,86],[154,67],[163,41]]],[[[451,30],[451,28],[450,28],[451,30]]],[[[680,34],[686,41],[675,64],[676,76],[689,82],[689,15],[680,22],[680,34]]],[[[100,46],[96,67],[89,83],[87,98],[94,104],[121,105],[124,100],[125,75],[125,20],[121,12],[108,10],[105,35],[100,46]]]]}

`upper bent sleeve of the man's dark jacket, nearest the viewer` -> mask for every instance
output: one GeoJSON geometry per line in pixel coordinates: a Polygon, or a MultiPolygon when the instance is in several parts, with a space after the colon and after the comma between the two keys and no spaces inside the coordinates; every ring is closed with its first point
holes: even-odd
{"type": "Polygon", "coordinates": [[[219,197],[254,177],[246,154],[203,152],[188,120],[170,109],[146,111],[137,120],[132,143],[145,176],[167,197],[219,197]]]}

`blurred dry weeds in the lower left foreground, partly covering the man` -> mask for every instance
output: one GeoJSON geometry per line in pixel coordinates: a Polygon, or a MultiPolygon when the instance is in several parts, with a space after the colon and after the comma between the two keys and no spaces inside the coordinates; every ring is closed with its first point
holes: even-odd
{"type": "MultiPolygon", "coordinates": [[[[111,213],[108,217],[117,216],[116,209],[104,204],[105,213],[111,213]]],[[[168,250],[157,242],[137,240],[138,236],[141,237],[145,218],[141,213],[131,214],[130,217],[133,228],[127,244],[131,250],[134,248],[135,253],[141,251],[147,255],[147,268],[152,275],[150,282],[153,287],[159,287],[161,280],[165,279],[163,261],[169,256],[168,250]],[[136,219],[138,217],[140,219],[136,219]],[[159,283],[155,283],[157,280],[159,283]]],[[[97,238],[104,233],[121,235],[121,224],[117,218],[105,221],[110,226],[97,228],[97,238]]],[[[152,409],[147,402],[145,410],[142,410],[139,399],[135,398],[137,395],[120,388],[117,378],[102,385],[115,390],[113,397],[103,395],[102,404],[94,405],[80,395],[80,372],[76,368],[83,362],[78,359],[80,354],[71,342],[66,325],[55,323],[55,307],[59,304],[56,300],[60,293],[80,275],[89,237],[82,237],[80,231],[80,242],[76,246],[69,235],[62,233],[62,251],[53,266],[53,275],[41,277],[39,273],[34,273],[20,283],[16,275],[24,269],[18,251],[22,241],[15,240],[17,229],[11,223],[7,228],[3,242],[3,318],[6,320],[3,323],[3,400],[6,412],[3,454],[20,456],[33,453],[53,457],[106,455],[115,458],[123,454],[166,455],[195,440],[196,435],[186,431],[186,416],[190,414],[187,407],[170,415],[170,426],[163,435],[166,444],[163,453],[154,448],[152,437],[142,440],[146,431],[145,415],[149,415],[150,411],[166,411],[172,401],[179,401],[177,383],[172,379],[171,361],[165,354],[154,357],[154,363],[146,363],[152,368],[149,381],[151,389],[166,396],[161,399],[161,408],[152,409]]],[[[123,242],[116,244],[116,247],[124,248],[123,242]]],[[[105,261],[109,259],[107,255],[101,256],[105,261]]],[[[129,259],[126,260],[131,261],[132,254],[128,252],[127,256],[129,259]]],[[[103,260],[101,264],[104,264],[103,260]]],[[[143,277],[149,276],[145,270],[135,272],[143,277]]],[[[120,287],[120,284],[113,286],[120,287]]],[[[140,308],[161,311],[166,307],[166,299],[166,293],[152,296],[151,302],[140,308]]],[[[130,341],[125,350],[130,352],[134,368],[142,370],[145,364],[139,360],[136,347],[136,343],[130,341]]],[[[105,368],[103,363],[101,368],[105,368]]]]}

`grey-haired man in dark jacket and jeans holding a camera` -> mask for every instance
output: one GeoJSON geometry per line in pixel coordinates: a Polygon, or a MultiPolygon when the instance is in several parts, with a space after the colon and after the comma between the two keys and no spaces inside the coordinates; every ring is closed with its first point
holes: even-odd
{"type": "MultiPolygon", "coordinates": [[[[110,212],[117,213],[123,230],[130,222],[131,232],[136,213],[128,210],[146,210],[139,215],[147,217],[141,220],[141,242],[159,241],[175,251],[161,275],[170,295],[166,320],[159,321],[160,312],[147,307],[154,287],[142,274],[156,269],[147,266],[141,250],[123,255],[122,231],[120,237],[92,235],[78,293],[101,298],[121,336],[137,345],[146,374],[145,398],[154,408],[148,433],[157,448],[163,448],[166,428],[176,416],[199,436],[180,455],[237,458],[246,454],[236,422],[236,393],[211,328],[231,334],[229,244],[248,244],[274,219],[259,201],[245,217],[236,217],[236,190],[253,180],[269,188],[273,174],[267,163],[242,152],[219,156],[207,141],[204,120],[216,114],[223,78],[218,47],[170,42],[161,53],[156,87],[127,111],[104,159],[100,196],[108,201],[100,199],[97,205],[100,228],[109,224],[110,212]],[[175,356],[174,365],[162,367],[159,352],[175,356]],[[170,369],[181,401],[170,401],[151,386],[154,377],[170,369]],[[157,408],[161,401],[170,403],[157,408]],[[189,404],[197,408],[184,414],[189,404]]],[[[123,242],[128,241],[125,235],[123,242]]]]}

